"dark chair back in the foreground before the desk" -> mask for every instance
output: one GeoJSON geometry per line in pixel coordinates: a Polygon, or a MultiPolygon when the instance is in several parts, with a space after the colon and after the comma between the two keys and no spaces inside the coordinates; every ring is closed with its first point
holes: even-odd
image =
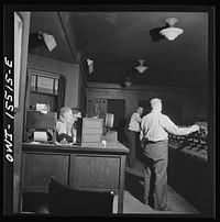
{"type": "Polygon", "coordinates": [[[48,186],[48,211],[52,215],[112,215],[113,193],[75,190],[54,176],[48,186]]]}

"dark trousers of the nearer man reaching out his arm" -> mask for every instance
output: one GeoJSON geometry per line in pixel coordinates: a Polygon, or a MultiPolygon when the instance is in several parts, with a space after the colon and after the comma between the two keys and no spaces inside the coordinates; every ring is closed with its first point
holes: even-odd
{"type": "Polygon", "coordinates": [[[144,146],[144,200],[154,209],[165,209],[167,201],[168,142],[146,142],[144,146]]]}

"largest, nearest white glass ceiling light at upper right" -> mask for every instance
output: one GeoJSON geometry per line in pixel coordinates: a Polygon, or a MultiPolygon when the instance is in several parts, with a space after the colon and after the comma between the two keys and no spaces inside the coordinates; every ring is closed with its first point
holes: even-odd
{"type": "Polygon", "coordinates": [[[174,27],[174,24],[176,22],[178,22],[176,18],[167,18],[165,20],[165,23],[169,24],[169,27],[162,30],[160,34],[164,35],[169,41],[174,41],[178,35],[184,33],[184,30],[179,27],[174,27]]]}

